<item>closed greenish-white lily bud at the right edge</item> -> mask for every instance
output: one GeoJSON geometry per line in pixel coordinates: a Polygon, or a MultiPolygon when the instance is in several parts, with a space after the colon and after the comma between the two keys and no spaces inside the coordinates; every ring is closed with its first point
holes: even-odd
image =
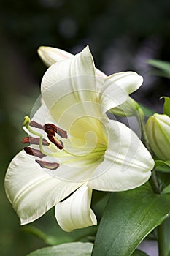
{"type": "Polygon", "coordinates": [[[170,160],[170,117],[154,114],[147,120],[146,131],[158,159],[170,160]]]}

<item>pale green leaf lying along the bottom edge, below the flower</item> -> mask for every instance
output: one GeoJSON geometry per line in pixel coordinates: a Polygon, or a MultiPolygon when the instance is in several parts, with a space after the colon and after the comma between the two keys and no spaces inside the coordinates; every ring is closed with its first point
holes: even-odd
{"type": "Polygon", "coordinates": [[[90,256],[92,248],[93,244],[90,243],[67,243],[38,249],[27,256],[90,256]]]}

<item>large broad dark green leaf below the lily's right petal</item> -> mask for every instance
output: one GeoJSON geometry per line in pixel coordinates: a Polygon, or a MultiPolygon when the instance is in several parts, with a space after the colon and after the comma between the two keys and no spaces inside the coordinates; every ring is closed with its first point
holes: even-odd
{"type": "Polygon", "coordinates": [[[128,256],[170,211],[169,194],[157,195],[149,184],[112,192],[98,227],[93,256],[128,256]]]}

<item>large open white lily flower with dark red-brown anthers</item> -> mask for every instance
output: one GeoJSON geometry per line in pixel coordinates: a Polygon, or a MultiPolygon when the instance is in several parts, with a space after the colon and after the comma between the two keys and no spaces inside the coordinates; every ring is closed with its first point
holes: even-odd
{"type": "Polygon", "coordinates": [[[21,224],[55,206],[63,230],[96,225],[92,189],[123,191],[150,178],[150,153],[131,129],[106,115],[142,78],[135,72],[97,74],[87,47],[53,64],[42,78],[42,106],[24,122],[30,137],[23,143],[31,147],[12,159],[5,177],[21,224]]]}

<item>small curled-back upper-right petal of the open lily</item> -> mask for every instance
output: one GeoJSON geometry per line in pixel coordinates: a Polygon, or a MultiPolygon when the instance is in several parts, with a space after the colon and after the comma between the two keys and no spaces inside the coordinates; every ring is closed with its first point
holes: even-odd
{"type": "Polygon", "coordinates": [[[101,105],[104,112],[115,108],[128,99],[128,94],[136,91],[143,82],[142,76],[136,72],[119,72],[105,79],[101,88],[101,105]],[[116,95],[116,97],[115,97],[116,95]]]}

